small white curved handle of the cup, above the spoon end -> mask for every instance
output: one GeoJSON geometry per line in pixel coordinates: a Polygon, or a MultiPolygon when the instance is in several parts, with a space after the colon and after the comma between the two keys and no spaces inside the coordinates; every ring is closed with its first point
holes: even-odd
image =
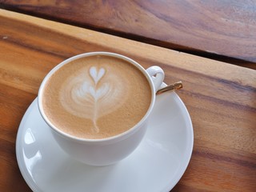
{"type": "Polygon", "coordinates": [[[163,79],[165,78],[165,73],[159,66],[150,66],[146,69],[146,72],[150,74],[150,78],[154,83],[155,92],[157,92],[162,85],[163,79]]]}

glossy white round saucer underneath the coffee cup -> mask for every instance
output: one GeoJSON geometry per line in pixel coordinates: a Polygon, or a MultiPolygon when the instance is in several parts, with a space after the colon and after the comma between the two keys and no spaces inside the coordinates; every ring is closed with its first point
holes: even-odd
{"type": "Polygon", "coordinates": [[[87,166],[70,158],[42,120],[37,99],[18,128],[18,166],[34,191],[170,191],[190,162],[194,135],[190,115],[174,92],[157,96],[146,137],[113,166],[87,166]]]}

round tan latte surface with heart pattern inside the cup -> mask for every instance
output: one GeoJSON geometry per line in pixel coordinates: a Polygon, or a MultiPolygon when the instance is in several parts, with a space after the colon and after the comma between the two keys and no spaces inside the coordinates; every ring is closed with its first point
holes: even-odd
{"type": "Polygon", "coordinates": [[[146,114],[151,88],[146,75],[122,58],[90,55],[67,62],[42,90],[46,118],[78,138],[109,138],[146,114]]]}

